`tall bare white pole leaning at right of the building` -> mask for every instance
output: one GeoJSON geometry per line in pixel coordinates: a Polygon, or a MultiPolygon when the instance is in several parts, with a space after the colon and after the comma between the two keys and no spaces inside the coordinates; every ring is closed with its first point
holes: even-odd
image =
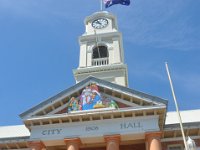
{"type": "Polygon", "coordinates": [[[176,100],[176,95],[175,95],[175,92],[174,92],[174,88],[173,88],[172,80],[171,80],[171,77],[170,77],[170,73],[169,73],[167,62],[165,62],[165,67],[166,67],[166,71],[167,71],[167,75],[168,75],[168,79],[169,79],[169,83],[170,83],[170,87],[171,87],[174,103],[175,103],[175,106],[176,106],[176,112],[177,112],[179,123],[180,123],[180,127],[181,127],[181,133],[182,133],[182,136],[183,136],[183,142],[184,142],[184,145],[185,145],[185,150],[189,150],[188,146],[187,146],[185,133],[184,133],[184,130],[183,130],[183,123],[182,123],[180,111],[179,111],[179,108],[178,108],[178,103],[177,103],[177,100],[176,100]]]}

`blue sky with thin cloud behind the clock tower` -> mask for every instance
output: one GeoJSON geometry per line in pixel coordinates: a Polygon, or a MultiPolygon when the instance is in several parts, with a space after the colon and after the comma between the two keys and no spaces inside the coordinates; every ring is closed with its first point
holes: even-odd
{"type": "MultiPolygon", "coordinates": [[[[181,110],[200,108],[200,1],[132,0],[107,9],[123,33],[129,87],[174,103],[168,62],[181,110]]],[[[0,0],[0,125],[75,84],[78,37],[99,0],[0,0]]]]}

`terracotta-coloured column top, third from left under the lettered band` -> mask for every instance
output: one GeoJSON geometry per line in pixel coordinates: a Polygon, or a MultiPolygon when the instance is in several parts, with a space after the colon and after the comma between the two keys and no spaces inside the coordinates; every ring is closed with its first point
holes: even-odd
{"type": "Polygon", "coordinates": [[[104,136],[106,141],[106,150],[119,150],[120,135],[104,136]]]}

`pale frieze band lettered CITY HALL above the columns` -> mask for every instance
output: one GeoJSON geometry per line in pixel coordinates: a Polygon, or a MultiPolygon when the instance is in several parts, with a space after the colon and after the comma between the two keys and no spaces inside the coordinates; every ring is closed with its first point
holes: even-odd
{"type": "MultiPolygon", "coordinates": [[[[122,138],[137,135],[143,139],[145,132],[159,131],[158,116],[119,118],[114,120],[97,120],[79,123],[44,125],[31,128],[31,140],[63,140],[64,138],[80,137],[82,142],[99,141],[104,135],[120,134],[122,138]],[[93,138],[93,141],[85,140],[93,138]]],[[[103,138],[102,138],[103,140],[103,138]]],[[[103,142],[103,141],[102,141],[103,142]]]]}

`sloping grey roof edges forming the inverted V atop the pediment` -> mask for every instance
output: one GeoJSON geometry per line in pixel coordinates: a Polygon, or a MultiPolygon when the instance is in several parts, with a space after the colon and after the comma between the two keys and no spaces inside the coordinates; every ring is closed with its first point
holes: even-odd
{"type": "Polygon", "coordinates": [[[43,107],[53,105],[54,103],[57,103],[57,102],[61,101],[63,98],[69,96],[70,94],[73,94],[73,92],[75,92],[77,89],[81,90],[85,86],[87,86],[89,83],[94,83],[94,82],[98,83],[98,86],[101,86],[103,88],[106,88],[108,90],[115,91],[115,92],[118,92],[121,94],[126,94],[127,96],[130,96],[130,97],[135,97],[137,99],[141,99],[148,104],[155,104],[155,105],[163,105],[164,104],[167,106],[167,101],[163,100],[161,98],[151,96],[151,95],[148,95],[148,94],[136,91],[136,90],[132,90],[132,89],[129,89],[124,86],[113,84],[108,81],[104,81],[104,80],[97,79],[94,77],[88,77],[87,79],[79,82],[78,84],[68,88],[67,90],[60,92],[59,94],[45,100],[44,102],[36,105],[35,107],[29,109],[28,111],[22,113],[20,115],[20,117],[23,120],[26,120],[27,118],[34,116],[35,113],[41,111],[41,109],[43,109],[43,107]]]}

